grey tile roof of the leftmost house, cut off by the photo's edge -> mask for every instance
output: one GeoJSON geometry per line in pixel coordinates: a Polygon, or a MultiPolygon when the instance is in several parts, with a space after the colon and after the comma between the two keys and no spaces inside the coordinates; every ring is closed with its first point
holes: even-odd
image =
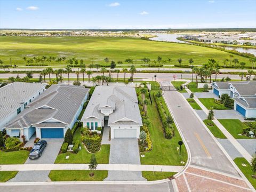
{"type": "Polygon", "coordinates": [[[44,84],[14,82],[0,88],[0,121],[17,111],[32,99],[33,95],[44,89],[44,84]]]}

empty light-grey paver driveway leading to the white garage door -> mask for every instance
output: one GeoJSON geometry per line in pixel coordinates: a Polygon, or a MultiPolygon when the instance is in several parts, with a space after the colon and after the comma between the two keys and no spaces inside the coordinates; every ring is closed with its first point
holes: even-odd
{"type": "MultiPolygon", "coordinates": [[[[111,139],[109,164],[140,164],[137,139],[111,139]]],[[[141,171],[108,171],[105,181],[146,181],[141,171]]]]}

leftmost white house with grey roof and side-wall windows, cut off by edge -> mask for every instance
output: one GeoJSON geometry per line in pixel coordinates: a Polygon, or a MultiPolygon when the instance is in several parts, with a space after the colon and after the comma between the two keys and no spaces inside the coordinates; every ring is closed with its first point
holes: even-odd
{"type": "Polygon", "coordinates": [[[14,82],[0,88],[0,131],[45,91],[41,83],[14,82]]]}

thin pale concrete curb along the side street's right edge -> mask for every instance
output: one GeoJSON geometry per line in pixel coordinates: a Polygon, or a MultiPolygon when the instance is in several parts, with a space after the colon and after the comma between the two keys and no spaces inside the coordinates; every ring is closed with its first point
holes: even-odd
{"type": "MultiPolygon", "coordinates": [[[[187,91],[187,90],[186,90],[187,91]]],[[[181,93],[180,93],[181,94],[181,93]]],[[[182,98],[184,100],[187,99],[184,97],[183,94],[182,98]]],[[[187,103],[189,105],[189,103],[187,103]]],[[[227,151],[222,147],[222,145],[219,143],[219,141],[214,137],[214,135],[212,134],[212,132],[208,129],[208,127],[204,124],[203,120],[199,117],[199,115],[196,113],[196,111],[193,109],[193,107],[191,107],[189,105],[189,107],[193,110],[193,113],[197,116],[197,118],[199,119],[199,121],[201,121],[201,123],[203,124],[203,126],[205,127],[206,131],[211,135],[211,137],[213,138],[213,140],[217,143],[217,145],[219,146],[219,148],[222,150],[222,152],[225,154],[225,156],[228,158],[229,162],[235,167],[236,171],[238,172],[239,175],[241,175],[241,177],[244,179],[244,181],[246,182],[246,184],[250,187],[250,189],[252,189],[252,191],[256,191],[254,189],[254,187],[252,186],[252,184],[249,182],[249,180],[245,177],[245,175],[243,174],[243,172],[238,168],[238,166],[235,164],[235,162],[233,161],[233,159],[228,155],[227,151]]]]}

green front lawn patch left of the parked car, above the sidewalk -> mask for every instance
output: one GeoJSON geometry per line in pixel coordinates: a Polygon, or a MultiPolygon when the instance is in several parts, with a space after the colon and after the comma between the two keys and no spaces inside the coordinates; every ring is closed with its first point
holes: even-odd
{"type": "Polygon", "coordinates": [[[4,152],[0,150],[0,164],[23,164],[29,155],[27,150],[4,152]]]}

